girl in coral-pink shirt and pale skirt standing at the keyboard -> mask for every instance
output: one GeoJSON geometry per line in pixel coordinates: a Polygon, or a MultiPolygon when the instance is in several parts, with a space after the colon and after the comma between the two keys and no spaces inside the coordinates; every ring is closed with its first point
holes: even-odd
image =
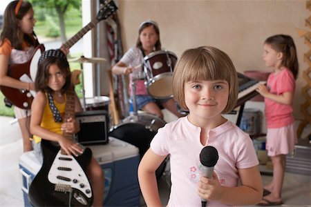
{"type": "Polygon", "coordinates": [[[299,66],[296,46],[292,37],[277,34],[263,44],[265,65],[274,68],[267,79],[267,86],[258,86],[257,91],[265,97],[267,122],[266,150],[272,159],[273,179],[264,187],[260,206],[283,204],[281,191],[285,172],[286,155],[294,150],[293,98],[295,79],[299,66]]]}

